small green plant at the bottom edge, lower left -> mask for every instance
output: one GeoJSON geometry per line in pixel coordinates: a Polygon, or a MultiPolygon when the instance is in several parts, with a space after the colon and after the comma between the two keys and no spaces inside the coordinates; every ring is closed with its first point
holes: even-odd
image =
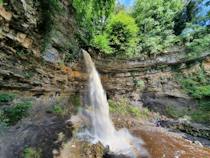
{"type": "Polygon", "coordinates": [[[23,158],[41,158],[41,149],[25,148],[23,158]]]}

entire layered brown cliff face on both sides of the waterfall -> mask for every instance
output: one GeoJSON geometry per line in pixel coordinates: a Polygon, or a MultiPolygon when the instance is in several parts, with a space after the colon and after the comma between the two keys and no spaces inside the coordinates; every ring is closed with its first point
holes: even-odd
{"type": "MultiPolygon", "coordinates": [[[[33,0],[0,6],[1,91],[41,96],[84,90],[83,61],[69,63],[67,55],[79,54],[80,48],[74,9],[67,0],[59,1],[60,7],[62,11],[51,13],[55,6],[33,0]]],[[[125,96],[160,111],[165,105],[194,105],[174,79],[174,67],[196,71],[198,61],[209,72],[209,54],[189,58],[179,50],[147,60],[93,58],[108,97],[125,96]],[[189,67],[188,63],[194,64],[189,67]]]]}

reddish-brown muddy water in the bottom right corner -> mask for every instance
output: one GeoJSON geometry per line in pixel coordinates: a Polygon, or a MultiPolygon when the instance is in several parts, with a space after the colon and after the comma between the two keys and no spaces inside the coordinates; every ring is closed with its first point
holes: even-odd
{"type": "Polygon", "coordinates": [[[210,148],[193,144],[160,127],[143,126],[132,133],[144,140],[152,158],[210,158],[210,148]]]}

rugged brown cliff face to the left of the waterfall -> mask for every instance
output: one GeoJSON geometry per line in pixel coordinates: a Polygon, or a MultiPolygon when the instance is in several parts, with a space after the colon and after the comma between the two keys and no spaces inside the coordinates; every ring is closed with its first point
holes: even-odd
{"type": "Polygon", "coordinates": [[[29,95],[80,89],[79,77],[63,63],[78,53],[74,11],[69,1],[53,12],[47,1],[7,1],[0,6],[0,89],[29,95]],[[72,47],[72,45],[74,47],[72,47]],[[77,87],[77,88],[76,88],[77,87]]]}

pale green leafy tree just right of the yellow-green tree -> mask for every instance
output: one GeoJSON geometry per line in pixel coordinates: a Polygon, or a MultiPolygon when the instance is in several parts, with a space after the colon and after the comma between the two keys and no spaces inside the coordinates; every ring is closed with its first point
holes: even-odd
{"type": "Polygon", "coordinates": [[[182,0],[137,0],[133,16],[139,26],[139,51],[156,55],[179,42],[174,18],[182,11],[182,0]]]}

